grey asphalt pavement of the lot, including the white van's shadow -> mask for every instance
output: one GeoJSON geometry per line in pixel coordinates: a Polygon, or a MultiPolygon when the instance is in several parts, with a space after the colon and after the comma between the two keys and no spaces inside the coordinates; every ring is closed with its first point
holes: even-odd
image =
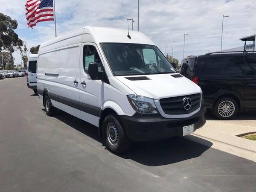
{"type": "Polygon", "coordinates": [[[116,156],[92,125],[0,81],[0,191],[256,192],[256,163],[177,137],[116,156]]]}

